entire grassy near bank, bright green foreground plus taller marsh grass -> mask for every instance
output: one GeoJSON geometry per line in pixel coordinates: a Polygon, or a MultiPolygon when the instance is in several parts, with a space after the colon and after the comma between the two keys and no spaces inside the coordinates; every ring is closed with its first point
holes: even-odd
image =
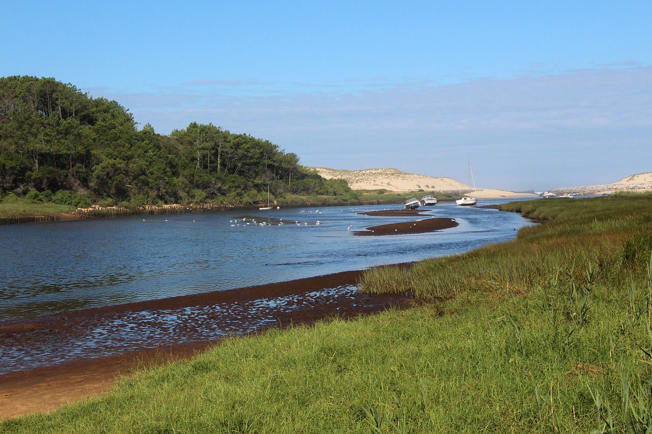
{"type": "Polygon", "coordinates": [[[0,431],[645,432],[652,198],[505,207],[545,223],[367,273],[366,289],[424,305],[228,340],[0,431]]]}

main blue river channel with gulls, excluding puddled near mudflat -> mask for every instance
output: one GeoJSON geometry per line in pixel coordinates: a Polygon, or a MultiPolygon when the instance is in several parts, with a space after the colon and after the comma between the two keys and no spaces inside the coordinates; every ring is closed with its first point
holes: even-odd
{"type": "Polygon", "coordinates": [[[351,235],[424,218],[356,214],[396,209],[382,205],[0,226],[0,321],[466,252],[513,239],[514,229],[529,224],[512,212],[454,203],[428,208],[460,225],[419,235],[351,235]]]}

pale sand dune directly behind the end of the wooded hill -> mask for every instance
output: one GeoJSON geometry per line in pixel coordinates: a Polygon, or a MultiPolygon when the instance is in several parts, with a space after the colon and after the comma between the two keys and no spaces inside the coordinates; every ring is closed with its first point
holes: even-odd
{"type": "Polygon", "coordinates": [[[464,182],[447,177],[427,177],[415,175],[397,169],[363,169],[336,170],[325,167],[308,167],[314,169],[325,179],[344,179],[353,190],[390,190],[393,192],[410,192],[423,190],[469,190],[464,182]]]}

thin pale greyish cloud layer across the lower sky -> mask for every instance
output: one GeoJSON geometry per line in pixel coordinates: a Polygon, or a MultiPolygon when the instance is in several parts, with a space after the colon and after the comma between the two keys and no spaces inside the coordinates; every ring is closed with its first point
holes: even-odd
{"type": "Polygon", "coordinates": [[[365,84],[355,92],[294,87],[241,97],[205,83],[111,98],[158,132],[210,122],[269,139],[308,166],[396,167],[463,181],[470,152],[479,184],[512,189],[601,184],[652,171],[650,66],[439,87],[365,84]]]}

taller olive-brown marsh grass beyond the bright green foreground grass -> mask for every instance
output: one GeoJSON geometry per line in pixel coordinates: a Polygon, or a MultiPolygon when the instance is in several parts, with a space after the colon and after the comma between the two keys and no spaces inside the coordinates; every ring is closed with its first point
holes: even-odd
{"type": "MultiPolygon", "coordinates": [[[[522,228],[516,240],[463,255],[427,259],[410,270],[372,268],[361,289],[454,297],[461,291],[512,291],[541,286],[568,265],[596,268],[600,282],[621,285],[652,252],[652,195],[518,201],[501,209],[545,224],[522,228]]],[[[640,280],[640,278],[638,279],[640,280]]]]}

